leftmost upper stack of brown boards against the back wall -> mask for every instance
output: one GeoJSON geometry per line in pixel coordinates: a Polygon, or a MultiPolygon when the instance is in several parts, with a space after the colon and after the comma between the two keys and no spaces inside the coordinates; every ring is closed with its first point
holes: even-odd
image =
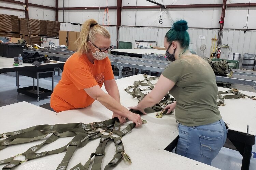
{"type": "Polygon", "coordinates": [[[17,37],[17,33],[19,33],[18,16],[0,14],[0,36],[17,37]]]}

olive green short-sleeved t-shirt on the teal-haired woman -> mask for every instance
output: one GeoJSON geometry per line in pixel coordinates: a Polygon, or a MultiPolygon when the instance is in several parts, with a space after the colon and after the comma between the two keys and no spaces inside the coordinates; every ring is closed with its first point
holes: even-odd
{"type": "Polygon", "coordinates": [[[175,83],[169,91],[176,100],[175,117],[186,126],[199,126],[221,120],[217,106],[215,74],[198,55],[172,62],[162,75],[175,83]]]}

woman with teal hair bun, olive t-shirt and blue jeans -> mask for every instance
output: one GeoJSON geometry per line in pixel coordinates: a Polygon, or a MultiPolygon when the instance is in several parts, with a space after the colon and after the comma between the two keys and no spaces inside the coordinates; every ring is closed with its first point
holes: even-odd
{"type": "Polygon", "coordinates": [[[172,63],[163,71],[154,89],[132,109],[158,103],[169,91],[176,102],[179,139],[175,153],[211,165],[227,138],[227,128],[217,106],[217,85],[211,66],[198,55],[189,52],[187,22],[177,21],[165,36],[166,56],[172,63]]]}

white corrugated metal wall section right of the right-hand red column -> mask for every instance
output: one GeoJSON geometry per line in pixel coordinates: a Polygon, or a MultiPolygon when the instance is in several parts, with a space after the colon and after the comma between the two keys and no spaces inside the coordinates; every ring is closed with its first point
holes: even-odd
{"type": "Polygon", "coordinates": [[[229,53],[240,53],[241,68],[244,53],[256,54],[256,30],[248,30],[244,34],[243,30],[223,29],[221,45],[227,44],[229,48],[221,48],[221,58],[228,59],[229,53]]]}

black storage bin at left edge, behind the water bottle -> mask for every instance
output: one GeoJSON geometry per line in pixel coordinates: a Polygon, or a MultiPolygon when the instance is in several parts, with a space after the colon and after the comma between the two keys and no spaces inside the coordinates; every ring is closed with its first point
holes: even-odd
{"type": "Polygon", "coordinates": [[[15,43],[0,43],[0,56],[13,58],[23,54],[24,45],[15,43]]]}

